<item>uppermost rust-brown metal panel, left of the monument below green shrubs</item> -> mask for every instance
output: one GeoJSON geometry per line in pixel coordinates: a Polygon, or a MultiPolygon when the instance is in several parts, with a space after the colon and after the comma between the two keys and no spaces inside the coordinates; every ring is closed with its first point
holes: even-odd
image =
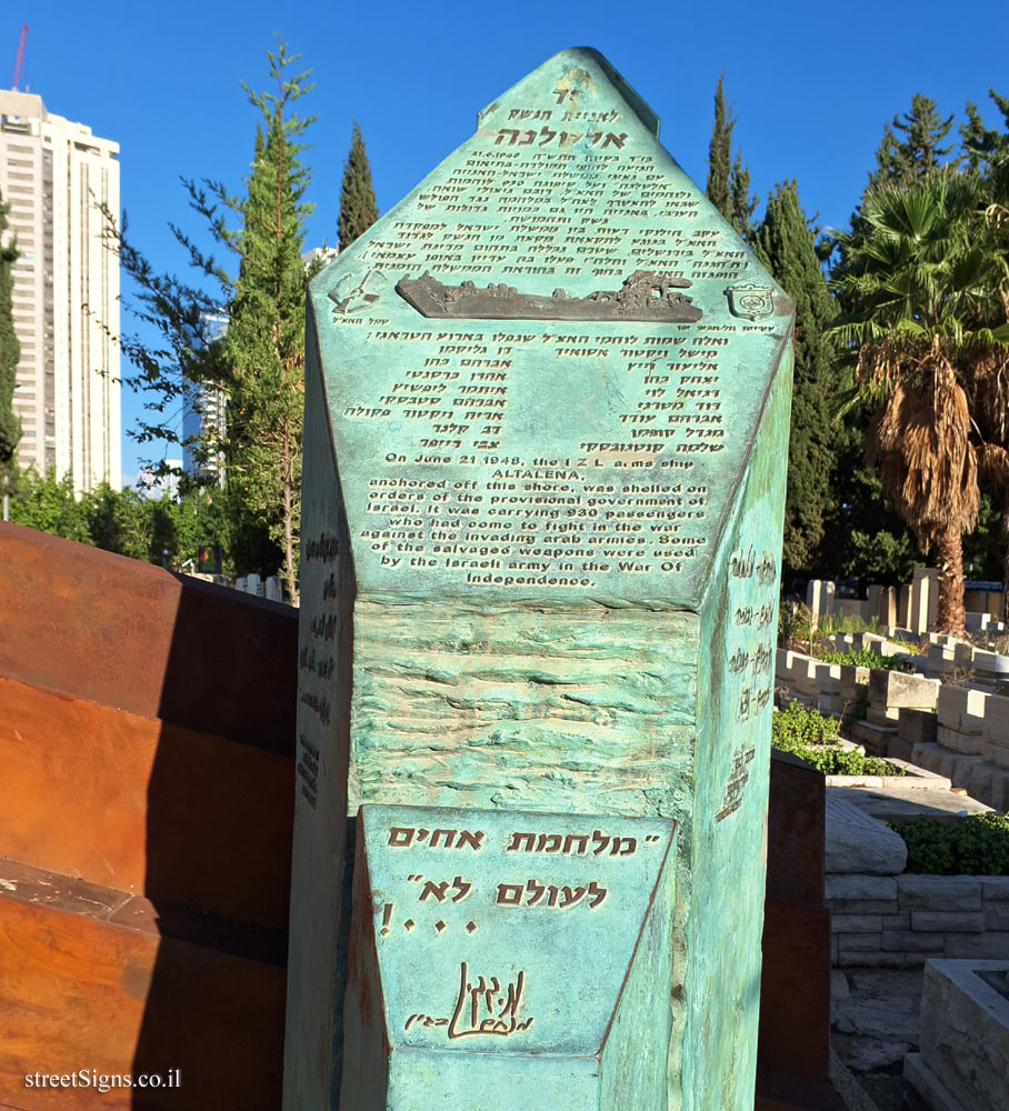
{"type": "Polygon", "coordinates": [[[298,611],[0,523],[0,675],[293,750],[298,611]]]}

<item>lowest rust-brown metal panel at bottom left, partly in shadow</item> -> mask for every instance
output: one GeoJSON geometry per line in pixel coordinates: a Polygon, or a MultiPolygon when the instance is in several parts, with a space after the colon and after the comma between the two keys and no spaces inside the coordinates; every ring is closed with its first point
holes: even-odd
{"type": "Polygon", "coordinates": [[[80,912],[80,892],[53,895],[47,882],[48,905],[20,901],[7,888],[0,894],[0,1104],[28,1111],[276,1111],[283,969],[97,920],[80,912]],[[36,1073],[170,1069],[180,1070],[181,1088],[146,1094],[121,1088],[100,1093],[80,1078],[77,1088],[26,1084],[36,1073]]]}

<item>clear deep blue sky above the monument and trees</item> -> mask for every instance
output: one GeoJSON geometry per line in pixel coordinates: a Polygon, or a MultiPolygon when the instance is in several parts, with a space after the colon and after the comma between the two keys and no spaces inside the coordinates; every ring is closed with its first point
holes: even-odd
{"type": "MultiPolygon", "coordinates": [[[[132,238],[166,270],[184,267],[168,222],[199,228],[179,177],[241,187],[256,110],[239,82],[266,87],[266,51],[278,32],[314,71],[316,90],[302,101],[319,117],[309,154],[317,204],[309,246],[336,240],[354,119],[384,212],[472,133],[479,109],[566,47],[596,47],[609,58],[659,113],[663,144],[702,188],[712,94],[725,71],[736,139],[761,202],[775,182],[796,178],[807,212],[827,226],[846,222],[883,123],[906,111],[913,93],[958,121],[973,100],[991,123],[989,87],[1009,96],[1005,0],[962,8],[936,0],[110,0],[99,8],[22,0],[7,10],[0,57],[6,48],[8,74],[27,22],[22,88],[27,82],[50,111],[120,143],[132,238]]],[[[139,399],[124,393],[128,480],[138,454],[150,454],[126,436],[139,410],[139,399]]]]}

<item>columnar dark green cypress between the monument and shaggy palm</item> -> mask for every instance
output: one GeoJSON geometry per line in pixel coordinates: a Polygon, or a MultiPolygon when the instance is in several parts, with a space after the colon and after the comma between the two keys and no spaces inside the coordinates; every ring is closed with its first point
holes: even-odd
{"type": "Polygon", "coordinates": [[[768,198],[753,250],[796,303],[783,561],[798,571],[818,565],[831,514],[835,429],[830,403],[837,379],[826,336],[835,303],[795,181],[777,186],[768,198]]]}

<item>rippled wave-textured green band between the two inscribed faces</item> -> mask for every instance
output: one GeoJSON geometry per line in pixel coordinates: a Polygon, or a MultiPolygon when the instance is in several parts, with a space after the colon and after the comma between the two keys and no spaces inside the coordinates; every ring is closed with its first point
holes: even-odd
{"type": "Polygon", "coordinates": [[[690,798],[693,614],[359,601],[356,618],[351,805],[672,817],[690,798]]]}

